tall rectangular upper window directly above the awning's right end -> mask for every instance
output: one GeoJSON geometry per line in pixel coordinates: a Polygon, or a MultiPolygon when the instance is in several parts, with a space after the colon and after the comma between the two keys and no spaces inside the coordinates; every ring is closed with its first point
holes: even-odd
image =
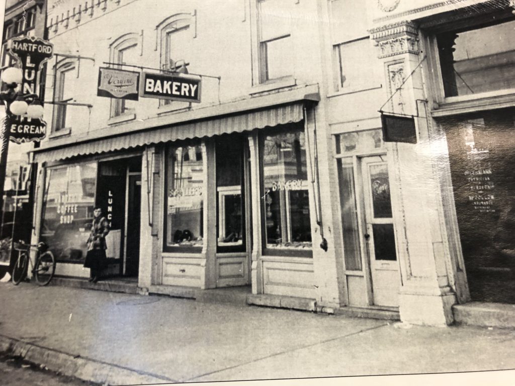
{"type": "Polygon", "coordinates": [[[260,83],[294,75],[289,7],[284,0],[258,2],[260,83]]]}

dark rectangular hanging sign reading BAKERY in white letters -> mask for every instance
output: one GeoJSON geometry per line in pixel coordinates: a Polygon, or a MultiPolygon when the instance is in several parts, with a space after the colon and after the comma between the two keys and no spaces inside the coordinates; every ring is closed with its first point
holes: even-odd
{"type": "Polygon", "coordinates": [[[200,103],[200,78],[143,72],[140,96],[200,103]]]}

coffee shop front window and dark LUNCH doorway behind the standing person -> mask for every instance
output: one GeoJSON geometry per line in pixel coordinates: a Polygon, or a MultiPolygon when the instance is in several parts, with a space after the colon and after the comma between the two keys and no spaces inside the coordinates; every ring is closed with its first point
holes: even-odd
{"type": "Polygon", "coordinates": [[[141,163],[141,155],[111,155],[43,169],[39,234],[56,256],[57,275],[89,275],[82,265],[93,209],[100,206],[111,228],[104,275],[138,276],[141,163]]]}

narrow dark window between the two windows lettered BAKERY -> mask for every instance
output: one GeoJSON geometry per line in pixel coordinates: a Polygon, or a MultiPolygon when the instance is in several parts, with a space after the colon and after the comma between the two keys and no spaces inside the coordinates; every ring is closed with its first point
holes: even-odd
{"type": "Polygon", "coordinates": [[[231,251],[245,250],[245,201],[242,195],[243,141],[220,136],[216,142],[217,245],[231,251]]]}

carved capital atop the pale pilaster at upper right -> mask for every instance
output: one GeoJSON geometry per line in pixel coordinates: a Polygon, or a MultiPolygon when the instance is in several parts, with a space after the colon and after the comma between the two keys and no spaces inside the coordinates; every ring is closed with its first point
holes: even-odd
{"type": "Polygon", "coordinates": [[[381,49],[380,58],[401,54],[419,54],[417,26],[412,22],[398,22],[369,30],[371,38],[381,49]]]}

